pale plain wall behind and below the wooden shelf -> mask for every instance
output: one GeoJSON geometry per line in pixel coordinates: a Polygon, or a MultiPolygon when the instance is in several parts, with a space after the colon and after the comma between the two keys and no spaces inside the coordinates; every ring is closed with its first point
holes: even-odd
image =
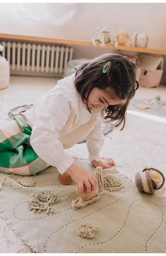
{"type": "MultiPolygon", "coordinates": [[[[39,9],[40,9],[40,5],[39,9]]],[[[54,4],[56,5],[56,4],[54,4]]],[[[149,48],[166,50],[166,4],[78,4],[78,11],[69,23],[57,27],[49,23],[28,21],[12,10],[15,4],[0,4],[0,33],[40,35],[57,38],[75,38],[90,40],[97,36],[96,27],[107,28],[111,38],[118,30],[125,29],[134,35],[136,31],[148,34],[149,48]],[[10,13],[1,11],[8,6],[10,13]]],[[[101,48],[75,47],[74,57],[94,57],[106,52],[101,48]]],[[[166,65],[165,65],[166,66],[166,65]]],[[[165,67],[166,72],[166,67],[165,67]]]]}

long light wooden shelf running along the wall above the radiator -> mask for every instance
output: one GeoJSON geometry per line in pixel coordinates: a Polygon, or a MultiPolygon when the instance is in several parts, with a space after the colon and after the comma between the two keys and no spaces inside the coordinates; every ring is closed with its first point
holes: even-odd
{"type": "MultiPolygon", "coordinates": [[[[76,39],[65,39],[65,38],[49,38],[49,37],[40,37],[40,36],[32,36],[32,35],[15,35],[15,34],[5,34],[0,33],[0,39],[5,40],[27,40],[30,42],[42,42],[42,43],[60,43],[67,45],[84,45],[84,46],[93,46],[93,43],[90,40],[76,40],[76,39]]],[[[97,43],[96,47],[100,47],[100,43],[97,43]]],[[[109,48],[112,50],[121,50],[127,52],[143,52],[154,55],[166,55],[166,50],[158,50],[153,48],[139,48],[132,46],[124,46],[118,45],[115,48],[114,45],[110,43],[105,44],[105,48],[109,48]]]]}

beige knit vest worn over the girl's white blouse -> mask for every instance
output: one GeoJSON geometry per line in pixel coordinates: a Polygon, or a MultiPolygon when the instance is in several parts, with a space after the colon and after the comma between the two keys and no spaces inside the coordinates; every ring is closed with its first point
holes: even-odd
{"type": "Polygon", "coordinates": [[[70,116],[66,121],[65,126],[59,132],[59,140],[64,148],[71,148],[76,143],[85,139],[98,121],[97,118],[94,118],[93,116],[91,116],[90,120],[83,125],[75,124],[75,120],[76,113],[74,108],[71,106],[70,116]]]}

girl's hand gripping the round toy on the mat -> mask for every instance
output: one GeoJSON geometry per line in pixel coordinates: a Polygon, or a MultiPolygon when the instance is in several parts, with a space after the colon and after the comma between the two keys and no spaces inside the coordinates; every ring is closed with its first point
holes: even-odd
{"type": "Polygon", "coordinates": [[[78,191],[83,192],[83,186],[86,187],[87,193],[91,190],[95,190],[97,179],[93,177],[89,172],[86,172],[84,169],[81,169],[77,165],[71,165],[66,173],[71,176],[74,182],[78,184],[78,191]]]}

